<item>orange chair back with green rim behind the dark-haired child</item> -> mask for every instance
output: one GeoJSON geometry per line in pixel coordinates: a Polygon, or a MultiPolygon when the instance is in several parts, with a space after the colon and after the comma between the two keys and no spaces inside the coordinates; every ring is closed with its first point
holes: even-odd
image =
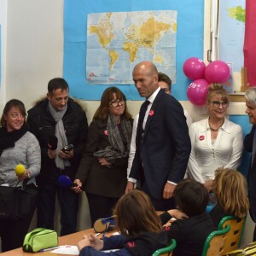
{"type": "Polygon", "coordinates": [[[212,231],[207,236],[203,247],[202,256],[222,256],[224,255],[224,245],[230,231],[230,225],[222,230],[212,231]]]}

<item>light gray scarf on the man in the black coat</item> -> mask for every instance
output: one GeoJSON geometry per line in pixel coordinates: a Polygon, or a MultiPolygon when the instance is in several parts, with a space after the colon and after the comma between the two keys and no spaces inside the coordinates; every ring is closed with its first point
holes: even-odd
{"type": "Polygon", "coordinates": [[[67,145],[67,137],[64,130],[64,125],[62,122],[62,118],[64,114],[67,111],[67,105],[64,110],[56,111],[55,108],[52,107],[52,105],[48,104],[49,106],[49,113],[55,119],[56,125],[55,125],[55,137],[58,138],[58,146],[56,148],[56,156],[55,156],[55,164],[57,168],[60,168],[61,170],[65,169],[65,166],[70,166],[70,162],[68,160],[61,159],[59,153],[61,149],[67,145]]]}

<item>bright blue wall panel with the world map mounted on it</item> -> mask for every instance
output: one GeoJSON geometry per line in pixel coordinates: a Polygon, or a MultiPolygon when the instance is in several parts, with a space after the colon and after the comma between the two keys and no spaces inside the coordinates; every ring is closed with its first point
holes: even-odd
{"type": "Polygon", "coordinates": [[[114,85],[128,100],[143,100],[132,68],[154,61],[171,76],[172,95],[188,100],[183,62],[191,55],[202,59],[203,22],[204,0],[65,0],[63,77],[70,95],[100,100],[114,85]]]}

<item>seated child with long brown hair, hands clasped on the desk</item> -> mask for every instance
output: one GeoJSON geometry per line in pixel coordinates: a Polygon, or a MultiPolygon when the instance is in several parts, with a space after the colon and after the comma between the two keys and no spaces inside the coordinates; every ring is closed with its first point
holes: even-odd
{"type": "Polygon", "coordinates": [[[113,211],[119,236],[84,236],[79,241],[79,255],[149,256],[155,250],[169,245],[166,232],[151,201],[143,191],[133,189],[123,195],[113,211]],[[119,248],[118,251],[103,253],[100,250],[119,248]]]}

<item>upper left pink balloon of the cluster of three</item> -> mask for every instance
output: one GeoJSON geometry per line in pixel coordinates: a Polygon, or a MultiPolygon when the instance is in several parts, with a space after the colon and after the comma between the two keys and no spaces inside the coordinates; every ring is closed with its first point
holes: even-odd
{"type": "Polygon", "coordinates": [[[183,73],[191,80],[203,79],[206,64],[199,58],[191,57],[183,64],[183,73]]]}

